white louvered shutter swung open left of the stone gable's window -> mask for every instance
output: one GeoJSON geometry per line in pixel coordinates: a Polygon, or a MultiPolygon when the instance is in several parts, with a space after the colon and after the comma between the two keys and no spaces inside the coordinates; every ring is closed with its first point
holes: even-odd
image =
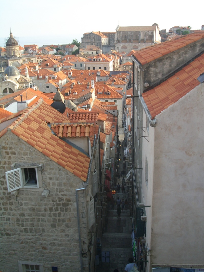
{"type": "Polygon", "coordinates": [[[6,172],[8,191],[14,191],[23,187],[23,178],[20,168],[6,172]]]}

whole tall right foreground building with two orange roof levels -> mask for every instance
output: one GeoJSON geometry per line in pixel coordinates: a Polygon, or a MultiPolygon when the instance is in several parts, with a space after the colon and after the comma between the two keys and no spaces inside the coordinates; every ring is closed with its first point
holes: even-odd
{"type": "Polygon", "coordinates": [[[203,47],[201,31],[132,58],[135,258],[147,272],[204,267],[203,47]]]}

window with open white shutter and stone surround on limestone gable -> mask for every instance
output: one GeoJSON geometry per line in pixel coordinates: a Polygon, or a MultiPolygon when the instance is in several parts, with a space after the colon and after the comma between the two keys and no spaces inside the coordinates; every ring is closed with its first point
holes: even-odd
{"type": "Polygon", "coordinates": [[[21,166],[5,172],[8,191],[11,192],[19,188],[39,188],[39,170],[42,169],[43,165],[40,164],[30,167],[21,166]]]}

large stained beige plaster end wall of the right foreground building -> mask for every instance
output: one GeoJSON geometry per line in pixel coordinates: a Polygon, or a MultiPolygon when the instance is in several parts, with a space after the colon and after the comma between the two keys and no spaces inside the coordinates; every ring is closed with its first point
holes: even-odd
{"type": "Polygon", "coordinates": [[[204,84],[161,112],[155,127],[151,265],[204,266],[204,84]]]}

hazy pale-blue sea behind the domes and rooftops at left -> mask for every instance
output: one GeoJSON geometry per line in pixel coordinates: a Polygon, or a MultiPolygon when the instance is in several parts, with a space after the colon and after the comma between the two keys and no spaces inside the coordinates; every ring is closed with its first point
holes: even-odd
{"type": "MultiPolygon", "coordinates": [[[[1,47],[5,47],[5,43],[7,41],[9,37],[0,37],[0,46],[1,47]]],[[[81,38],[77,38],[77,37],[65,37],[63,36],[38,36],[38,37],[15,37],[14,38],[17,40],[18,44],[21,45],[22,47],[24,47],[24,45],[27,44],[36,44],[38,45],[38,47],[41,47],[43,45],[51,45],[51,44],[71,44],[73,39],[78,39],[79,42],[81,42],[81,38]]]]}

